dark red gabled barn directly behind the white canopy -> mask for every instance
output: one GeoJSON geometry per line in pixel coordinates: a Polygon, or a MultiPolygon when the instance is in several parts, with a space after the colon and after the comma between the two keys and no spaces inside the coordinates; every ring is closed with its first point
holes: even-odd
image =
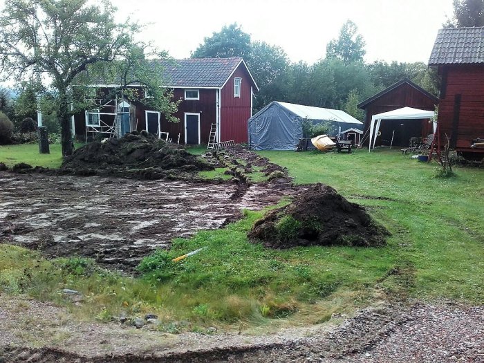
{"type": "MultiPolygon", "coordinates": [[[[364,138],[368,135],[373,115],[401,109],[405,106],[434,111],[436,104],[438,104],[437,97],[408,78],[404,78],[358,104],[358,107],[364,110],[364,138]]],[[[405,122],[386,120],[380,125],[381,135],[377,137],[375,145],[390,145],[393,136],[393,145],[409,146],[410,138],[425,138],[431,132],[432,125],[428,120],[405,120],[405,122]]]]}

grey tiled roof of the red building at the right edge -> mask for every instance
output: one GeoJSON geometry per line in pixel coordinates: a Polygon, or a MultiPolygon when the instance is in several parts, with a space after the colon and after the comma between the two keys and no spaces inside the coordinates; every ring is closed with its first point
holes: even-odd
{"type": "Polygon", "coordinates": [[[429,66],[484,63],[484,27],[438,30],[429,66]]]}

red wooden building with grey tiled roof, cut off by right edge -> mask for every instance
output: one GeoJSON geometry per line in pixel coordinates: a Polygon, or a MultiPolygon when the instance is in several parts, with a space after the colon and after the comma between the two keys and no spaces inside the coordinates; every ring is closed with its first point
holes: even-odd
{"type": "Polygon", "coordinates": [[[442,77],[438,122],[440,136],[463,153],[484,153],[472,147],[484,138],[484,27],[440,29],[429,59],[442,77]]]}

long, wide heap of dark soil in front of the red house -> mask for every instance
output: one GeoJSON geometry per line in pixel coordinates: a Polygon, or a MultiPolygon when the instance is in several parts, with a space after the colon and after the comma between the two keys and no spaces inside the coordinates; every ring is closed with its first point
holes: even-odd
{"type": "Polygon", "coordinates": [[[59,173],[157,179],[213,169],[183,147],[159,140],[146,131],[133,131],[119,140],[92,142],[75,150],[64,160],[59,173]]]}

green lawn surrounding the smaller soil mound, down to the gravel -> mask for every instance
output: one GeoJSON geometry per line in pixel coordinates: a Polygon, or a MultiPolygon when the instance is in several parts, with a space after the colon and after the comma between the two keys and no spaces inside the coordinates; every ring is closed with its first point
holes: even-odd
{"type": "Polygon", "coordinates": [[[143,261],[140,277],[0,245],[0,291],[54,300],[100,320],[155,311],[160,329],[171,333],[313,324],[381,299],[483,303],[483,169],[456,168],[455,178],[435,178],[436,164],[391,150],[260,154],[287,167],[295,183],[325,183],[364,205],[391,232],[388,245],[270,250],[248,243],[261,213],[245,212],[223,230],[176,239],[171,250],[143,261]],[[171,262],[201,247],[207,249],[171,262]],[[64,300],[60,288],[82,291],[82,306],[64,300]]]}

